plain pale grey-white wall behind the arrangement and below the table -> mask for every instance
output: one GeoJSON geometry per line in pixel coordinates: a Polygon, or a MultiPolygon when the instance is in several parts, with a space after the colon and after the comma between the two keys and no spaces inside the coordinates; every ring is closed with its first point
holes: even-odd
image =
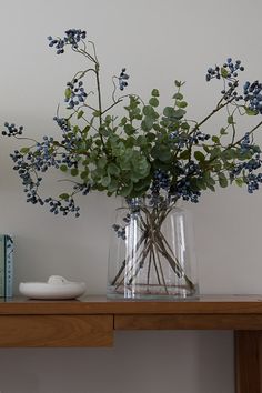
{"type": "MultiPolygon", "coordinates": [[[[261,12],[259,0],[2,0],[0,123],[21,123],[36,138],[58,132],[52,117],[79,59],[57,57],[46,37],[68,28],[87,29],[95,41],[104,97],[122,67],[131,74],[131,92],[147,98],[159,88],[163,104],[173,80],[187,80],[190,114],[201,119],[219,94],[204,81],[209,66],[231,56],[243,60],[246,79],[262,79],[261,12]]],[[[11,170],[16,143],[0,143],[0,232],[16,234],[16,290],[20,281],[61,274],[85,280],[90,294],[104,293],[108,228],[118,201],[91,194],[78,220],[29,205],[11,170]]],[[[261,293],[261,192],[231,188],[189,206],[202,293],[261,293]]],[[[171,390],[232,393],[232,333],[121,332],[110,350],[0,350],[1,393],[171,390]]]]}

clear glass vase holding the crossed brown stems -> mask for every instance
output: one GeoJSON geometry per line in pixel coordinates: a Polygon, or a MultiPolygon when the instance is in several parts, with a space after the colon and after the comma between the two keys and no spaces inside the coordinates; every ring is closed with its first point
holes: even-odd
{"type": "Polygon", "coordinates": [[[192,222],[163,201],[132,199],[117,209],[109,251],[108,298],[198,298],[192,222]]]}

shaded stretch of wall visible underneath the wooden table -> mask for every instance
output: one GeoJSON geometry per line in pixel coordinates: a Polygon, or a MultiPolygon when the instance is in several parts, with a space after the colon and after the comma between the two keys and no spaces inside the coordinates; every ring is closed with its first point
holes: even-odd
{"type": "Polygon", "coordinates": [[[230,332],[118,332],[112,349],[8,349],[0,364],[1,393],[234,390],[230,332]]]}

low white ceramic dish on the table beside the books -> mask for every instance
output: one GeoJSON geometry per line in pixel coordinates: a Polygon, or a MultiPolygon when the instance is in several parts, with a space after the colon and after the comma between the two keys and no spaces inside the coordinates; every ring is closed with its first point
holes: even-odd
{"type": "Polygon", "coordinates": [[[30,299],[66,300],[81,296],[87,290],[84,282],[72,282],[60,275],[51,275],[48,282],[21,282],[19,291],[30,299]]]}

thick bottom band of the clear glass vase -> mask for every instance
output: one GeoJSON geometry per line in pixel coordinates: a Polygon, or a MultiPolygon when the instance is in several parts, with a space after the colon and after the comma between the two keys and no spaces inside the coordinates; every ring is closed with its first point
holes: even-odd
{"type": "Polygon", "coordinates": [[[185,286],[162,286],[162,285],[143,285],[135,286],[111,285],[108,289],[107,296],[109,299],[122,300],[192,300],[199,298],[199,289],[194,285],[193,289],[185,286]]]}

